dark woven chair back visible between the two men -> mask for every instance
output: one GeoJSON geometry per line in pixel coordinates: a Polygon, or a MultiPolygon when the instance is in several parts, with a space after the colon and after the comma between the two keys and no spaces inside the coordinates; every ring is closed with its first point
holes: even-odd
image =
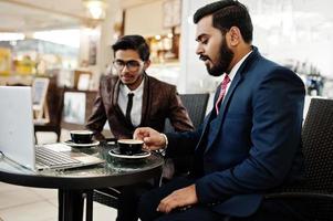
{"type": "MultiPolygon", "coordinates": [[[[189,118],[191,119],[195,128],[197,128],[204,122],[209,94],[180,94],[179,96],[189,115],[189,118]]],[[[174,128],[168,119],[166,120],[164,131],[174,131],[174,128]]]]}

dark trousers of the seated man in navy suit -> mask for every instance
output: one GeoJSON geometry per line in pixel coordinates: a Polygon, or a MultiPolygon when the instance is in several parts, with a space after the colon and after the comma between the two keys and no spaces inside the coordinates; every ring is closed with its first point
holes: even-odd
{"type": "Polygon", "coordinates": [[[259,210],[248,218],[231,218],[212,211],[206,206],[194,206],[187,210],[173,210],[165,214],[156,211],[159,201],[171,193],[174,190],[187,187],[194,183],[194,180],[187,178],[175,179],[165,186],[145,193],[139,201],[138,217],[142,221],[180,221],[180,220],[200,220],[200,221],[303,221],[306,220],[302,214],[301,203],[289,204],[282,200],[263,200],[259,210]]]}

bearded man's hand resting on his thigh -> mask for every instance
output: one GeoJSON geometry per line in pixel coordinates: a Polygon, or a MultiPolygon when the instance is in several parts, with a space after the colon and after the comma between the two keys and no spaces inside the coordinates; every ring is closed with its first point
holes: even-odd
{"type": "Polygon", "coordinates": [[[191,185],[189,187],[174,191],[171,194],[164,198],[158,207],[157,211],[168,213],[175,208],[191,206],[198,202],[196,186],[191,185]]]}

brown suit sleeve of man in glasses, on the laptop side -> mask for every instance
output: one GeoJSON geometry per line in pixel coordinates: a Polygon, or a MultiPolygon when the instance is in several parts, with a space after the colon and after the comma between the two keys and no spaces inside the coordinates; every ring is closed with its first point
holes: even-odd
{"type": "Polygon", "coordinates": [[[103,127],[105,125],[105,122],[107,119],[105,108],[104,108],[104,104],[103,104],[103,99],[102,99],[102,96],[101,96],[101,87],[102,87],[102,85],[100,84],[100,90],[98,90],[97,96],[96,96],[95,102],[94,102],[92,114],[89,117],[89,120],[85,125],[85,127],[87,129],[95,133],[94,136],[97,139],[103,139],[104,138],[101,133],[102,133],[103,127]]]}

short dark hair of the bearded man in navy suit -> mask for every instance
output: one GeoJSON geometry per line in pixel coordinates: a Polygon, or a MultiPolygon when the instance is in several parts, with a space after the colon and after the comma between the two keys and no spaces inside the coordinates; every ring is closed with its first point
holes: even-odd
{"type": "Polygon", "coordinates": [[[253,38],[253,25],[246,6],[239,1],[221,0],[198,9],[194,22],[198,23],[204,17],[212,14],[212,27],[223,34],[231,28],[238,27],[244,42],[250,43],[253,38]]]}

